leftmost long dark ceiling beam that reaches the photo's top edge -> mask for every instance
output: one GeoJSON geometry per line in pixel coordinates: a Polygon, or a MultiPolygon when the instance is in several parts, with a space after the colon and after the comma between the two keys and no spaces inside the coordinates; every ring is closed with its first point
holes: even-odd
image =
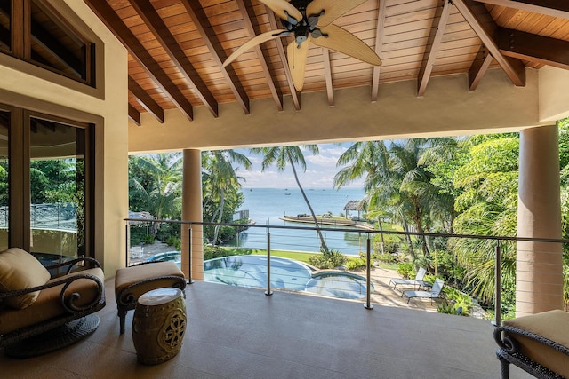
{"type": "Polygon", "coordinates": [[[132,34],[132,31],[124,25],[123,20],[116,15],[110,5],[108,5],[106,1],[100,0],[84,1],[85,4],[92,9],[92,12],[105,23],[116,38],[124,44],[126,50],[131,53],[132,58],[139,62],[140,66],[143,67],[148,76],[150,76],[150,79],[164,92],[164,95],[180,109],[182,114],[188,117],[189,120],[192,120],[194,109],[188,99],[180,92],[180,89],[172,82],[162,67],[156,63],[156,60],[152,58],[136,36],[132,34]]]}

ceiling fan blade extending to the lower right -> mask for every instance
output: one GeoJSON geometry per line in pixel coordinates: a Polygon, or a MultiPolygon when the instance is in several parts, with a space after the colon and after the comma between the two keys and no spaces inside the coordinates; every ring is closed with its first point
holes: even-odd
{"type": "Polygon", "coordinates": [[[357,38],[357,36],[349,33],[348,30],[330,24],[325,28],[320,28],[320,31],[322,31],[324,36],[312,38],[312,43],[317,46],[343,52],[350,57],[363,60],[373,66],[381,65],[381,59],[375,51],[365,44],[364,41],[357,38]]]}

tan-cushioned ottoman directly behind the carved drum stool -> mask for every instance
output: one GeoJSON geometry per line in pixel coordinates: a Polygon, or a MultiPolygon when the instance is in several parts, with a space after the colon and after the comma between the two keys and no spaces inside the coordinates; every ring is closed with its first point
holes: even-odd
{"type": "Polygon", "coordinates": [[[115,297],[121,335],[126,312],[136,308],[138,298],[152,289],[167,287],[180,288],[182,292],[186,288],[184,273],[174,262],[148,262],[116,270],[115,297]]]}

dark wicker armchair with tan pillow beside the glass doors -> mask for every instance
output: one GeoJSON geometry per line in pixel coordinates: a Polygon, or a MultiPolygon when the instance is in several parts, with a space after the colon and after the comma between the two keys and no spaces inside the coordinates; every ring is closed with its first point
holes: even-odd
{"type": "Polygon", "coordinates": [[[0,348],[6,355],[28,358],[75,343],[99,327],[99,317],[92,313],[104,306],[104,274],[95,259],[81,257],[44,268],[24,250],[0,252],[0,348]],[[9,256],[11,264],[22,262],[24,270],[6,265],[2,259],[9,256]],[[14,277],[29,272],[31,287],[11,289],[7,284],[21,283],[14,277]],[[36,285],[38,280],[45,282],[36,285]]]}

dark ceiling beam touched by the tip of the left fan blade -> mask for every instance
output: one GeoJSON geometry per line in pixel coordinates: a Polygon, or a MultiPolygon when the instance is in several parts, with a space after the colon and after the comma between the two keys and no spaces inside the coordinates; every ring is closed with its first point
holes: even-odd
{"type": "Polygon", "coordinates": [[[229,84],[237,103],[243,108],[245,114],[250,114],[251,107],[249,105],[247,92],[245,92],[243,84],[239,80],[235,69],[231,66],[223,67],[223,61],[227,59],[228,56],[221,48],[220,39],[213,32],[212,25],[210,24],[210,20],[207,18],[204,9],[197,1],[182,0],[181,3],[184,4],[186,12],[188,12],[189,17],[196,25],[197,32],[204,39],[205,45],[212,54],[215,63],[220,68],[221,75],[223,75],[223,78],[229,84]]]}

